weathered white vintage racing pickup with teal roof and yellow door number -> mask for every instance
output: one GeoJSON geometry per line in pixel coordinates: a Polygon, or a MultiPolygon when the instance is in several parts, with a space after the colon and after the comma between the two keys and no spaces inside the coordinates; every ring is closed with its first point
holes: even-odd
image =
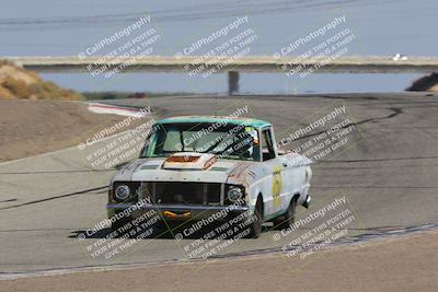
{"type": "Polygon", "coordinates": [[[258,237],[263,222],[288,229],[297,206],[309,207],[310,164],[277,151],[273,125],[264,120],[165,118],[152,127],[140,156],[112,178],[107,214],[114,230],[150,210],[160,221],[244,214],[249,237],[258,237]],[[114,221],[128,209],[128,217],[114,221]]]}

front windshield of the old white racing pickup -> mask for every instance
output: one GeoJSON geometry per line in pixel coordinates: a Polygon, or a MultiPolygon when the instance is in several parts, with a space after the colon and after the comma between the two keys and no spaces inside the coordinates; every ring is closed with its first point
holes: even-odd
{"type": "Polygon", "coordinates": [[[176,152],[211,153],[223,159],[260,159],[258,132],[245,125],[160,124],[154,127],[140,157],[169,156],[176,152]]]}

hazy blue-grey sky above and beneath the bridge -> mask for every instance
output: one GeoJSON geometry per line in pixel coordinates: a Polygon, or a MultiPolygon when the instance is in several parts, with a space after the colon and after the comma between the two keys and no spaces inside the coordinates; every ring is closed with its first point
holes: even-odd
{"type": "MultiPolygon", "coordinates": [[[[203,37],[247,15],[247,23],[228,36],[203,46],[196,55],[215,49],[233,35],[251,28],[256,40],[249,55],[272,56],[299,37],[345,15],[335,34],[348,28],[355,38],[346,55],[436,56],[434,37],[438,20],[436,0],[253,0],[253,1],[24,1],[0,0],[0,57],[76,56],[101,39],[131,25],[140,16],[151,22],[138,33],[153,28],[160,36],[151,55],[174,56],[203,37]]],[[[136,32],[137,33],[137,32],[136,32]]],[[[129,37],[105,47],[117,49],[129,37]]],[[[319,45],[319,37],[302,46],[302,54],[319,45]]],[[[87,71],[87,70],[85,70],[87,71]]],[[[45,79],[79,91],[155,91],[222,93],[227,75],[194,78],[183,73],[124,73],[114,78],[84,73],[50,73],[45,79]]],[[[381,92],[402,91],[417,74],[312,74],[309,78],[278,73],[241,74],[241,91],[249,93],[381,92]]]]}

